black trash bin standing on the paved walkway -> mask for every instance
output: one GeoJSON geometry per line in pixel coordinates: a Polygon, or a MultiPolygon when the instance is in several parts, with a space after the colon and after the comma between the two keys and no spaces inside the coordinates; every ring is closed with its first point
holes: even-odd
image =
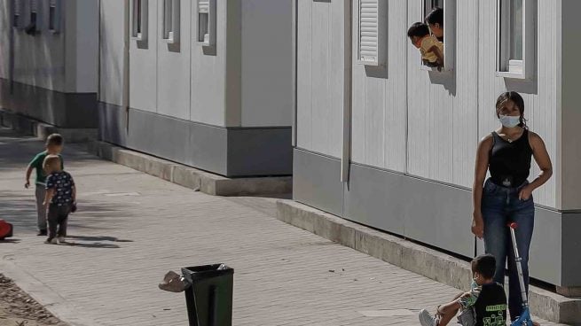
{"type": "Polygon", "coordinates": [[[234,269],[224,264],[182,268],[190,326],[232,326],[234,269]]]}

